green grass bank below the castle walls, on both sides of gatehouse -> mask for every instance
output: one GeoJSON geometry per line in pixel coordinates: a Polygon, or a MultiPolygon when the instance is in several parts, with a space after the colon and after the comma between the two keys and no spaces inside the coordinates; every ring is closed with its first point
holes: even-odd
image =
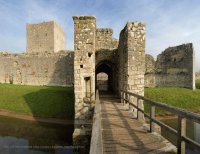
{"type": "MultiPolygon", "coordinates": [[[[196,90],[177,87],[146,88],[145,97],[192,112],[200,112],[200,80],[196,90]]],[[[71,119],[74,115],[73,88],[0,84],[0,110],[38,117],[71,119]]],[[[149,106],[145,104],[145,111],[149,106]]],[[[156,109],[156,114],[169,115],[156,109]]]]}

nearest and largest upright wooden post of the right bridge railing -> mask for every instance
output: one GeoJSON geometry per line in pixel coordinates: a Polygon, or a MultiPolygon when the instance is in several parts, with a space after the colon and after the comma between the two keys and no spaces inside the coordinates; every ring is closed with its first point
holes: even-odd
{"type": "Polygon", "coordinates": [[[177,138],[177,150],[180,154],[185,154],[185,142],[182,140],[182,136],[186,135],[186,119],[181,115],[178,115],[178,138],[177,138]]]}

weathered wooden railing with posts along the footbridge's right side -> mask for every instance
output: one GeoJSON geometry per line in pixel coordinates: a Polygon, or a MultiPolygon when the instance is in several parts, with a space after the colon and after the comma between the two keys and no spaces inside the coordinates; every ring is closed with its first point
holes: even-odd
{"type": "Polygon", "coordinates": [[[200,150],[200,144],[194,140],[191,140],[186,136],[186,119],[190,119],[194,122],[200,123],[200,115],[192,112],[188,112],[184,109],[180,109],[177,107],[173,107],[170,105],[166,105],[160,102],[152,101],[144,96],[140,96],[138,94],[127,92],[121,90],[121,102],[123,104],[128,103],[129,105],[133,106],[137,109],[137,118],[139,118],[139,112],[142,112],[145,117],[150,120],[150,132],[155,131],[155,123],[158,124],[160,127],[164,128],[165,130],[169,131],[170,133],[177,136],[177,152],[178,153],[185,153],[185,143],[193,146],[200,150]],[[130,101],[130,96],[137,98],[137,105],[133,104],[130,101]],[[139,100],[143,100],[145,103],[150,105],[150,115],[144,112],[143,109],[139,106],[139,100]],[[178,127],[177,130],[171,128],[170,126],[164,124],[163,122],[155,119],[155,107],[162,108],[169,112],[172,112],[178,115],[178,127]]]}

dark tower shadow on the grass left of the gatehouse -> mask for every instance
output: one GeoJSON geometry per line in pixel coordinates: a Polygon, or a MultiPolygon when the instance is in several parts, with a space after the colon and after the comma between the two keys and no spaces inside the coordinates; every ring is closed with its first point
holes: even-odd
{"type": "Polygon", "coordinates": [[[47,87],[23,97],[34,117],[74,119],[72,87],[47,87]]]}

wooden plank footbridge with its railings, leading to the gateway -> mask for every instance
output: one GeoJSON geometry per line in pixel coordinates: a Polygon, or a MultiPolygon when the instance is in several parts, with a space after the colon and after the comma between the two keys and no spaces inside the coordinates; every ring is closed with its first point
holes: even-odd
{"type": "Polygon", "coordinates": [[[97,93],[90,154],[185,153],[185,143],[200,150],[200,144],[186,136],[187,118],[200,123],[200,116],[197,114],[153,102],[133,93],[122,92],[121,99],[113,95],[101,95],[98,99],[97,93]],[[131,103],[131,97],[137,99],[136,105],[131,103]],[[140,109],[141,100],[150,104],[150,114],[140,109]],[[137,108],[136,116],[133,115],[130,106],[137,108]],[[176,113],[178,129],[158,121],[154,116],[155,107],[176,113]],[[149,128],[142,122],[141,113],[150,119],[149,128]],[[155,133],[155,124],[177,136],[177,148],[155,133]]]}

